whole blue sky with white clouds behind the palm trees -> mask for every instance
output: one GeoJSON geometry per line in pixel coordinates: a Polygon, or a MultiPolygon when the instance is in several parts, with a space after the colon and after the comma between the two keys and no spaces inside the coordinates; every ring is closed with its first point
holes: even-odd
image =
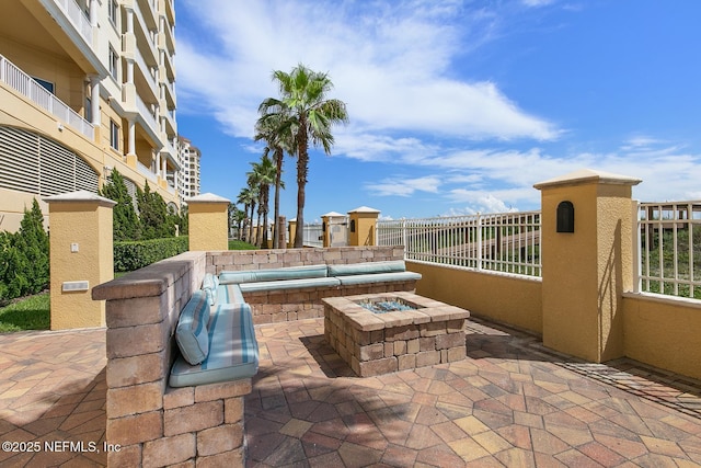
{"type": "MultiPolygon", "coordinates": [[[[304,219],[538,209],[583,168],[641,201],[701,199],[701,2],[179,0],[179,132],[235,201],[273,70],[327,72],[350,122],[310,153],[304,219]]],[[[286,159],[281,213],[296,213],[286,159]]],[[[272,209],[272,207],[271,207],[272,209]]]]}

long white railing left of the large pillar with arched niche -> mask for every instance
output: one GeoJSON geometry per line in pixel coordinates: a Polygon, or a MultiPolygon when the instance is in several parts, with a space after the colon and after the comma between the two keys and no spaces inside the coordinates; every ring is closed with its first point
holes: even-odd
{"type": "Polygon", "coordinates": [[[379,221],[377,231],[406,260],[541,275],[540,212],[379,221]]]}

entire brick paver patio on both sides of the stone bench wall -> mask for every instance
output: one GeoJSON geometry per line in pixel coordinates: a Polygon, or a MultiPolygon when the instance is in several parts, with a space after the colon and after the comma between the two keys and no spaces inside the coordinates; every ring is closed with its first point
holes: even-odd
{"type": "MultiPolygon", "coordinates": [[[[358,378],[321,319],[256,331],[250,467],[701,466],[701,384],[630,359],[582,363],[471,319],[466,361],[358,378]]],[[[1,466],[105,464],[104,336],[0,335],[0,440],[42,445],[1,466]]]]}

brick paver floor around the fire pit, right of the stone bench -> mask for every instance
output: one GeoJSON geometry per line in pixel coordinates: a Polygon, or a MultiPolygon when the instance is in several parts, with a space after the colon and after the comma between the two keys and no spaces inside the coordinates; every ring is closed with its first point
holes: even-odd
{"type": "Polygon", "coordinates": [[[323,320],[256,327],[248,466],[701,466],[701,385],[468,322],[468,358],[356,377],[323,320]]]}

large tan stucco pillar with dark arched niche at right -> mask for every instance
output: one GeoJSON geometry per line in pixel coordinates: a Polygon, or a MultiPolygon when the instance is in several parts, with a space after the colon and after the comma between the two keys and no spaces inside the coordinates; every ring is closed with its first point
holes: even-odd
{"type": "Polygon", "coordinates": [[[535,185],[545,346],[595,363],[623,355],[622,293],[633,288],[631,193],[640,182],[585,169],[535,185]]]}

